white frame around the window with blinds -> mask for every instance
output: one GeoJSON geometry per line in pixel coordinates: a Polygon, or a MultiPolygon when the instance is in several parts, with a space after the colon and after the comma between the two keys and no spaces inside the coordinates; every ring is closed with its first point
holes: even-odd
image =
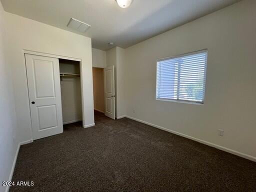
{"type": "Polygon", "coordinates": [[[205,100],[205,92],[206,92],[207,63],[208,63],[208,49],[207,48],[204,48],[204,49],[201,49],[201,50],[197,50],[197,51],[187,52],[187,53],[184,53],[184,54],[178,54],[178,55],[175,55],[175,56],[169,56],[169,57],[163,57],[163,58],[157,59],[156,60],[155,99],[156,100],[161,100],[161,101],[171,101],[171,102],[203,105],[204,104],[204,100],[205,100]],[[204,80],[204,85],[203,85],[204,92],[203,92],[203,100],[202,101],[157,97],[157,64],[158,64],[158,62],[164,61],[164,60],[169,60],[169,59],[174,59],[174,58],[178,58],[178,57],[193,55],[193,54],[199,54],[199,53],[203,53],[203,52],[206,53],[206,61],[205,61],[205,75],[204,75],[204,79],[205,80],[204,80]]]}

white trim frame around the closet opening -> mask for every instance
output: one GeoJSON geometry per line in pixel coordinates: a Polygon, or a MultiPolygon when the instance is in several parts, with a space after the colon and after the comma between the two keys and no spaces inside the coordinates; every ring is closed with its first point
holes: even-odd
{"type": "MultiPolygon", "coordinates": [[[[24,60],[25,60],[25,54],[33,54],[33,55],[38,55],[38,56],[47,56],[47,57],[53,57],[53,58],[62,58],[62,59],[68,59],[68,60],[74,60],[74,61],[79,61],[79,67],[80,67],[80,86],[81,86],[81,104],[82,104],[82,124],[84,123],[84,115],[83,115],[83,111],[84,111],[84,103],[83,103],[83,81],[82,81],[82,59],[81,58],[75,58],[75,57],[69,57],[69,56],[62,56],[62,55],[57,55],[57,54],[51,54],[51,53],[45,53],[45,52],[38,52],[38,51],[33,51],[33,50],[27,50],[27,49],[23,49],[23,54],[24,54],[24,60]]],[[[26,62],[25,62],[26,65],[26,62]]],[[[27,81],[27,72],[26,72],[26,83],[28,83],[27,81]]],[[[28,87],[28,86],[27,86],[28,87]]],[[[28,94],[28,88],[27,88],[27,94],[28,94]]],[[[29,98],[29,96],[28,96],[29,98]]],[[[29,102],[28,102],[29,105],[29,102]]],[[[32,119],[31,119],[31,110],[29,107],[29,121],[30,121],[30,135],[31,135],[31,141],[33,141],[33,136],[32,136],[32,119]]]]}

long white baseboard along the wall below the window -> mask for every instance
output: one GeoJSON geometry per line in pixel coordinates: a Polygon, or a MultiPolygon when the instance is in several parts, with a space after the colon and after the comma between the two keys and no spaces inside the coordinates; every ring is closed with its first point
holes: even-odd
{"type": "Polygon", "coordinates": [[[179,135],[179,136],[183,136],[183,137],[185,137],[185,138],[189,138],[189,139],[191,139],[191,140],[194,140],[194,141],[197,141],[197,142],[206,144],[206,145],[208,145],[208,146],[212,146],[212,147],[214,147],[214,148],[217,148],[217,149],[220,149],[220,150],[223,150],[223,151],[226,151],[226,152],[229,152],[229,153],[235,154],[235,155],[237,155],[237,156],[240,156],[240,157],[243,157],[243,158],[246,158],[246,159],[249,159],[249,160],[252,160],[252,161],[255,161],[255,162],[256,162],[256,157],[255,157],[255,156],[251,156],[251,155],[248,155],[248,154],[245,154],[245,153],[242,153],[242,152],[239,152],[239,151],[236,151],[236,150],[233,150],[233,149],[224,147],[224,146],[220,146],[220,145],[218,145],[218,144],[214,144],[214,143],[212,143],[212,142],[208,142],[208,141],[205,141],[205,140],[202,140],[202,139],[199,139],[199,138],[195,138],[195,137],[193,137],[193,136],[189,136],[189,135],[186,135],[186,134],[183,134],[183,133],[174,131],[174,130],[170,130],[170,129],[164,128],[164,127],[162,127],[162,126],[158,126],[158,125],[152,124],[152,123],[150,123],[150,122],[146,122],[146,121],[143,121],[143,120],[140,120],[140,119],[131,117],[131,116],[124,115],[124,117],[130,118],[130,119],[132,119],[132,120],[136,120],[136,121],[138,121],[138,122],[142,122],[142,123],[144,123],[144,124],[153,126],[153,127],[155,127],[155,128],[159,128],[159,129],[162,129],[162,130],[171,132],[171,133],[173,133],[173,134],[177,134],[177,135],[179,135]]]}

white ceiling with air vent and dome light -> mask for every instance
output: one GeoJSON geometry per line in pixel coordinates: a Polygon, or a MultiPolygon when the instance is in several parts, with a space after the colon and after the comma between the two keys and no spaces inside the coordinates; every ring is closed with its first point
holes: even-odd
{"type": "Polygon", "coordinates": [[[115,0],[1,0],[5,11],[92,38],[92,47],[108,42],[126,48],[239,0],[133,0],[120,8],[115,0]],[[91,25],[85,33],[68,28],[74,17],[91,25]]]}

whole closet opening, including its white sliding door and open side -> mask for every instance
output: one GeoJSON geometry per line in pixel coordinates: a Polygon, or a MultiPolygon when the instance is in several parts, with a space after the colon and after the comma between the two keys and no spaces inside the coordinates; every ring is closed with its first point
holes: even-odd
{"type": "MultiPolygon", "coordinates": [[[[32,140],[82,123],[81,60],[24,50],[32,140]]],[[[81,124],[81,126],[83,123],[81,124]]]]}

